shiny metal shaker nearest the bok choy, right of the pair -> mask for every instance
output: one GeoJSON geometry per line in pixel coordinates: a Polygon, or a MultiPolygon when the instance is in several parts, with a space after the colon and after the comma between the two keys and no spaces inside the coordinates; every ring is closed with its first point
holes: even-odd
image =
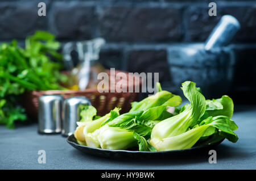
{"type": "Polygon", "coordinates": [[[64,101],[64,119],[61,131],[63,136],[69,136],[76,130],[76,122],[80,120],[80,104],[91,105],[90,100],[84,96],[74,96],[64,101]]]}

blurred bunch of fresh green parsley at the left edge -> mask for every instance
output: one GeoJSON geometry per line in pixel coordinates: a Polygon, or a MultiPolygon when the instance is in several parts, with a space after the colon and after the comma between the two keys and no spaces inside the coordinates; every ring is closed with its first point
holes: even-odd
{"type": "Polygon", "coordinates": [[[60,73],[63,65],[59,48],[55,36],[46,31],[28,36],[25,48],[16,40],[0,45],[1,124],[14,128],[15,120],[26,120],[24,108],[17,106],[24,91],[64,89],[60,83],[67,81],[67,76],[60,73]]]}

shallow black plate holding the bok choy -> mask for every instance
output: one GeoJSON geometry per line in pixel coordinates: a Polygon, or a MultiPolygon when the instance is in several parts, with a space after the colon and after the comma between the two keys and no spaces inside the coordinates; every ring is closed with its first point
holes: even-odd
{"type": "Polygon", "coordinates": [[[192,148],[183,149],[183,150],[171,150],[171,151],[130,151],[130,150],[108,150],[101,148],[92,148],[89,146],[79,145],[76,141],[75,136],[72,134],[67,138],[67,142],[71,144],[76,149],[88,153],[91,155],[96,155],[100,157],[108,157],[108,158],[165,158],[176,155],[184,155],[190,153],[198,153],[199,151],[210,150],[214,148],[214,146],[219,145],[224,139],[221,139],[217,142],[211,144],[197,144],[192,148]]]}

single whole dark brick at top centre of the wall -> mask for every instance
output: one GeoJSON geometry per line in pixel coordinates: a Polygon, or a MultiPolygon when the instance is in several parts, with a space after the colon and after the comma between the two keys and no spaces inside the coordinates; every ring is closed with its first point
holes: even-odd
{"type": "Polygon", "coordinates": [[[181,39],[180,9],[104,6],[99,18],[101,36],[108,41],[166,42],[181,39]]]}

